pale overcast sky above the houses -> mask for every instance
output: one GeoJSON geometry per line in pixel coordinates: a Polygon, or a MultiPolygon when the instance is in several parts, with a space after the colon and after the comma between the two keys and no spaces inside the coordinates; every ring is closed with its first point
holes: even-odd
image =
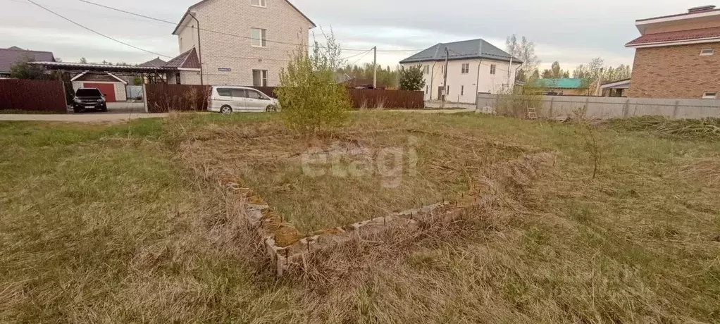
{"type": "MultiPolygon", "coordinates": [[[[34,0],[106,35],[163,55],[178,55],[174,26],[84,4],[78,0],[34,0]]],[[[92,0],[130,12],[177,22],[199,0],[92,0]]],[[[248,0],[238,0],[248,1],[248,0]]],[[[267,0],[281,1],[281,0],[267,0]]],[[[316,24],[335,31],[343,48],[410,50],[438,42],[483,38],[505,49],[505,38],[524,35],[536,42],[542,67],[558,60],[575,68],[594,57],[608,65],[631,64],[634,50],[624,44],[639,36],[635,19],[685,12],[708,1],[679,0],[291,0],[316,24]]],[[[47,50],[66,62],[143,63],[157,55],[118,44],[28,3],[0,0],[0,48],[47,50]]],[[[359,52],[345,51],[343,56],[359,52]]],[[[378,53],[383,66],[395,66],[413,52],[378,53]]],[[[167,60],[167,58],[165,58],[167,60]]],[[[352,63],[372,62],[372,55],[352,63]]]]}

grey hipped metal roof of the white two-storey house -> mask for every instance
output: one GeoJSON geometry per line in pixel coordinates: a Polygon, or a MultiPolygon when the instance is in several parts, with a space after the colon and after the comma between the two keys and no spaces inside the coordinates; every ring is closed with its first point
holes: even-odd
{"type": "MultiPolygon", "coordinates": [[[[510,54],[500,48],[496,48],[489,42],[478,38],[477,40],[464,40],[462,42],[438,43],[431,48],[421,51],[400,63],[426,62],[433,60],[445,60],[445,47],[449,50],[449,60],[467,60],[474,58],[487,58],[490,60],[510,61],[510,54]]],[[[513,58],[513,63],[523,63],[518,58],[513,58]]]]}

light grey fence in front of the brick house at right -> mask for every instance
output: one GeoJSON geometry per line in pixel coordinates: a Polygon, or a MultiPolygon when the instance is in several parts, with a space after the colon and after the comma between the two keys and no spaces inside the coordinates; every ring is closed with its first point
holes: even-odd
{"type": "MultiPolygon", "coordinates": [[[[498,94],[478,94],[477,109],[495,112],[498,94]],[[490,107],[490,108],[487,108],[490,107]]],[[[537,102],[537,100],[535,100],[537,102]]],[[[537,104],[537,103],[536,103],[537,104]]],[[[665,116],[683,119],[720,117],[718,99],[611,98],[604,96],[541,96],[539,117],[563,118],[585,108],[585,117],[611,119],[636,116],[665,116]]]]}

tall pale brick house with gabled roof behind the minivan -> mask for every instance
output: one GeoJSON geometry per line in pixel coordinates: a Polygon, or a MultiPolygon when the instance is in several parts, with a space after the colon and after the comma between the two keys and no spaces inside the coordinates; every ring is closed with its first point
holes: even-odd
{"type": "Polygon", "coordinates": [[[182,54],[168,62],[179,69],[168,83],[276,86],[313,27],[287,0],[200,1],[173,32],[182,54]]]}

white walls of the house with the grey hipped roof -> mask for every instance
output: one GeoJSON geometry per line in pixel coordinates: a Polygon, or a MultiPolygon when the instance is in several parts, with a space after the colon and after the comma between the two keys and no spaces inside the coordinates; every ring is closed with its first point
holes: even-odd
{"type": "MultiPolygon", "coordinates": [[[[421,64],[427,65],[428,73],[425,76],[426,84],[426,100],[438,100],[438,89],[443,85],[443,66],[445,61],[423,62],[423,63],[406,63],[402,64],[405,68],[421,64]]],[[[510,70],[510,79],[514,78],[515,69],[521,66],[513,63],[510,70]]],[[[450,102],[474,103],[477,93],[489,92],[497,94],[503,91],[503,87],[508,84],[508,68],[509,62],[500,60],[474,59],[474,60],[451,60],[448,62],[448,81],[449,88],[446,100],[450,102]],[[462,73],[462,65],[469,64],[468,73],[462,73]],[[490,66],[495,65],[495,74],[490,74],[490,66]],[[478,74],[480,69],[480,74],[478,74]]]]}

